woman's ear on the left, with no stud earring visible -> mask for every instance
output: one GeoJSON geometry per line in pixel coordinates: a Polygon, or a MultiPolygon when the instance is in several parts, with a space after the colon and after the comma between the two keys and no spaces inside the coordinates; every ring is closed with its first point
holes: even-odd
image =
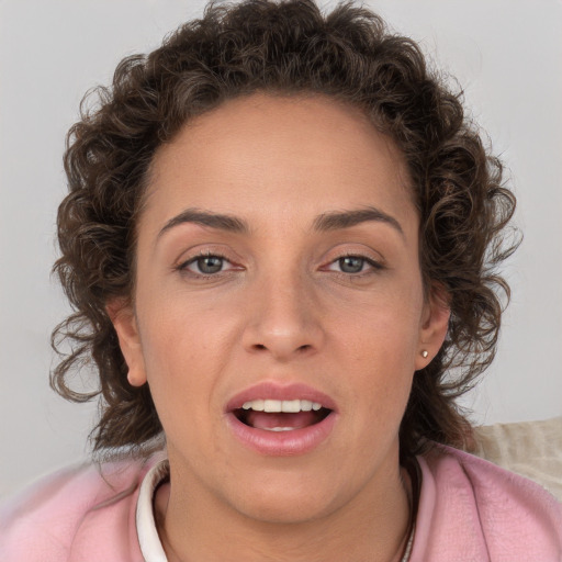
{"type": "Polygon", "coordinates": [[[117,333],[121,352],[128,367],[127,380],[132,386],[142,386],[146,382],[146,369],[135,312],[121,300],[112,301],[105,310],[117,333]]]}

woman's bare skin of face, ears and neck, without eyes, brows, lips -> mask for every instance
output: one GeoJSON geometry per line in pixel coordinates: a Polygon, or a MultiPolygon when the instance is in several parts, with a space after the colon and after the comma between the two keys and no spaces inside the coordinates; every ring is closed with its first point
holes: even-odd
{"type": "Polygon", "coordinates": [[[156,514],[170,560],[400,560],[409,508],[398,427],[449,317],[424,292],[418,226],[400,150],[323,95],[228,101],[160,147],[137,225],[134,305],[110,313],[130,382],[149,384],[167,437],[171,485],[156,514]],[[193,207],[249,231],[162,232],[193,207]],[[367,207],[400,229],[314,229],[325,213],[367,207]],[[224,256],[222,270],[186,266],[201,252],[224,256]],[[345,272],[346,255],[379,267],[345,272]],[[329,437],[283,458],[237,441],[225,404],[263,380],[336,401],[329,437]]]}

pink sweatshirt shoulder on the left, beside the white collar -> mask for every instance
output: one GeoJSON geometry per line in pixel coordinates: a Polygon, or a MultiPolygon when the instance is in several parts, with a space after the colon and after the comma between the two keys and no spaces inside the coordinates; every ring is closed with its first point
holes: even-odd
{"type": "Polygon", "coordinates": [[[136,497],[151,464],[66,468],[9,498],[0,506],[0,560],[135,560],[136,497]]]}

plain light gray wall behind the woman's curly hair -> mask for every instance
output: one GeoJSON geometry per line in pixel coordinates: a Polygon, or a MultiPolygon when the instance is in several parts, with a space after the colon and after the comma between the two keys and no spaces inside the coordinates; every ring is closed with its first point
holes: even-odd
{"type": "MultiPolygon", "coordinates": [[[[465,89],[519,199],[525,243],[496,362],[464,403],[479,424],[562,414],[562,2],[366,2],[465,89]]],[[[156,47],[194,0],[0,0],[0,495],[88,453],[95,405],[48,387],[68,312],[49,278],[64,136],[87,89],[156,47]]],[[[333,2],[322,2],[323,7],[333,2]]]]}

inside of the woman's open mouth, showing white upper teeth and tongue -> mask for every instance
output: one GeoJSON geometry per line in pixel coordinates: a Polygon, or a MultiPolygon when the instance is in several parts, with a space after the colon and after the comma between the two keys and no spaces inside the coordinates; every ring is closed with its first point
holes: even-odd
{"type": "Polygon", "coordinates": [[[293,431],[314,426],[331,413],[317,402],[307,400],[254,400],[233,411],[248,427],[266,431],[293,431]]]}

